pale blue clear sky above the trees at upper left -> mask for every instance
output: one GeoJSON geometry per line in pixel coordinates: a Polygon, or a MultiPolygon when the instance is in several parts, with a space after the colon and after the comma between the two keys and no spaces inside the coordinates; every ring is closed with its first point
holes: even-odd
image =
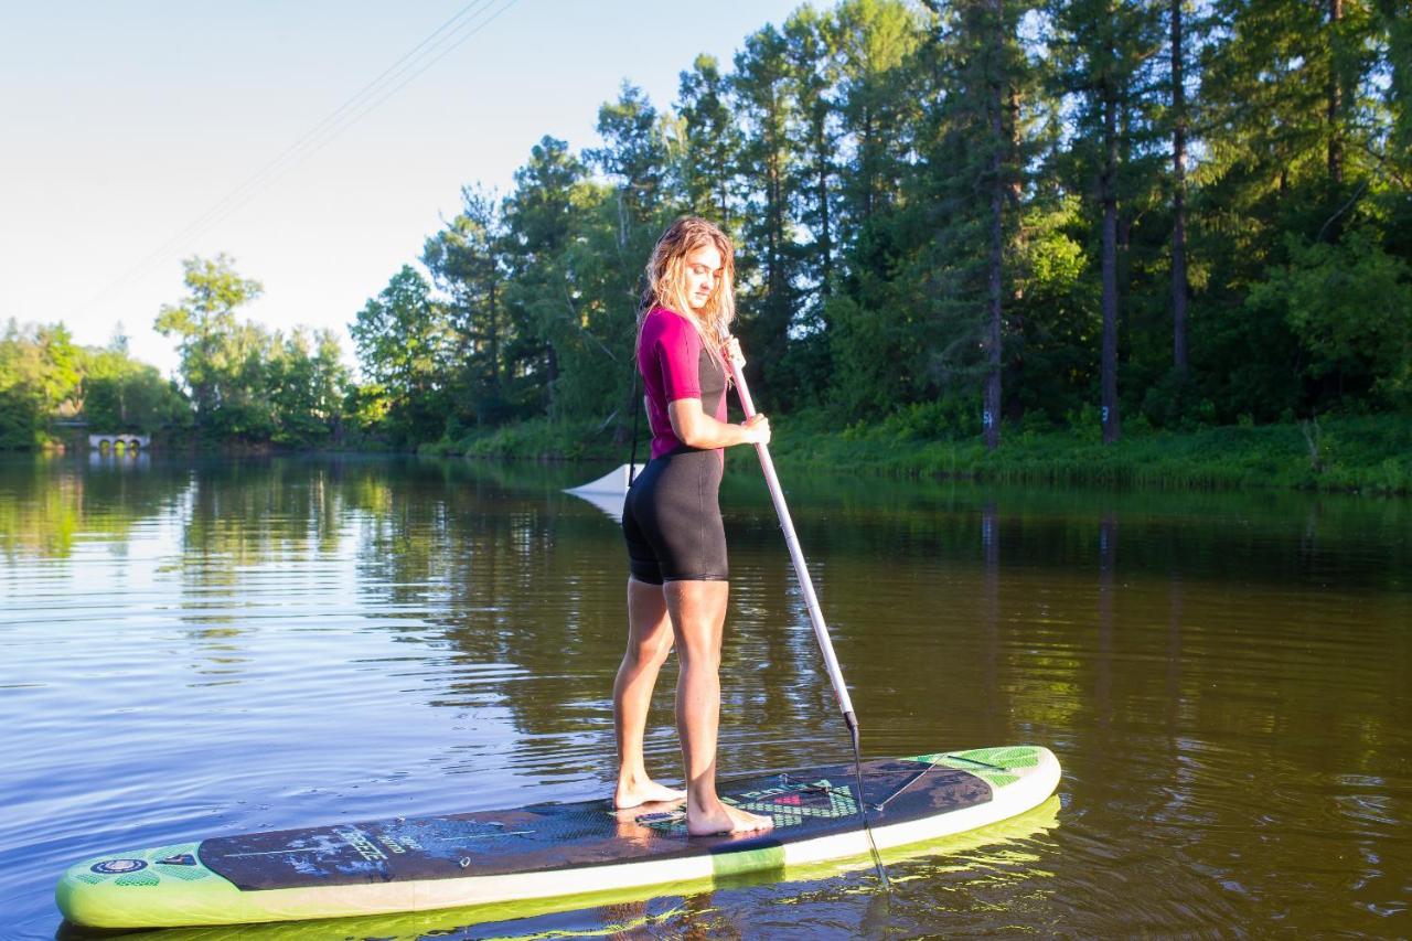
{"type": "Polygon", "coordinates": [[[181,260],[223,251],[264,285],[243,316],[336,329],[352,363],[349,322],[462,187],[505,194],[545,134],[596,146],[623,81],[666,107],[798,6],[0,0],[0,325],[121,332],[172,374],[152,322],[181,260]]]}

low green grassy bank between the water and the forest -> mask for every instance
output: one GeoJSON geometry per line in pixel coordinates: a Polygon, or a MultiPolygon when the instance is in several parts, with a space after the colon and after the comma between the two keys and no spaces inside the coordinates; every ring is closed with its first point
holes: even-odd
{"type": "MultiPolygon", "coordinates": [[[[597,422],[530,421],[442,441],[425,454],[480,458],[627,461],[627,446],[597,422]]],[[[782,468],[1014,483],[1083,483],[1182,489],[1293,487],[1412,493],[1412,417],[1323,418],[1288,425],[1196,431],[1128,431],[1103,445],[1073,430],[1005,430],[998,451],[979,439],[947,441],[898,422],[830,428],[818,415],[775,420],[771,445],[782,468]]],[[[638,459],[645,459],[645,438],[638,459]]],[[[734,455],[733,459],[744,458],[734,455]]]]}

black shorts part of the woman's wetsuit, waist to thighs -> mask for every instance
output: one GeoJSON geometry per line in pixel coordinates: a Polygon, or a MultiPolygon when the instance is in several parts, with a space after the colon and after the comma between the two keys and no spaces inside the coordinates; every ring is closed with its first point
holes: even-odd
{"type": "Polygon", "coordinates": [[[720,458],[716,451],[681,445],[652,458],[633,480],[623,504],[633,578],[650,585],[730,578],[720,519],[720,458]]]}

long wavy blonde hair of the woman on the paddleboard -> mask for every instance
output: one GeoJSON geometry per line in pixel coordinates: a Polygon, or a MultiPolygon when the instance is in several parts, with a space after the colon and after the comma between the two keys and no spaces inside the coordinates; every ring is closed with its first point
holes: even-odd
{"type": "Polygon", "coordinates": [[[736,319],[736,246],[720,226],[699,216],[682,216],[666,227],[647,260],[647,290],[637,312],[638,332],[654,307],[685,316],[700,333],[702,343],[722,360],[722,349],[736,319]],[[714,246],[722,257],[722,277],[700,311],[686,297],[686,256],[702,246],[714,246]]]}

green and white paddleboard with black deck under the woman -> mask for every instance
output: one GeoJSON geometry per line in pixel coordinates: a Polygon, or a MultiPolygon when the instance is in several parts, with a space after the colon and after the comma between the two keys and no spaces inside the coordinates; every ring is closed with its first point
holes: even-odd
{"type": "MultiPolygon", "coordinates": [[[[880,848],[936,839],[1048,798],[1059,762],[1012,746],[867,762],[880,848]]],[[[688,836],[679,810],[607,801],[395,818],[113,853],[59,880],[64,916],[95,928],[249,924],[552,899],[782,870],[868,852],[850,766],[719,786],[770,814],[764,834],[688,836]]]]}

